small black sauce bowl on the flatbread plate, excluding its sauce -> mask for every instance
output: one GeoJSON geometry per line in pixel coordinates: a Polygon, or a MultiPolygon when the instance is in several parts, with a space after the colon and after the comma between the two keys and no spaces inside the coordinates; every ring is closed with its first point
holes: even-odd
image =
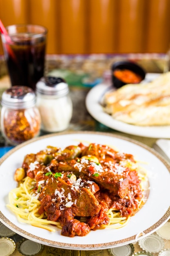
{"type": "MultiPolygon", "coordinates": [[[[134,62],[130,62],[130,61],[116,61],[115,63],[113,63],[111,70],[112,70],[112,83],[115,88],[120,88],[129,83],[129,82],[126,83],[125,81],[121,81],[121,79],[118,79],[114,75],[115,70],[130,70],[130,71],[132,71],[133,73],[140,76],[141,80],[138,83],[140,83],[142,80],[144,80],[145,75],[146,75],[146,72],[144,71],[144,69],[142,67],[140,67],[138,64],[136,64],[134,62]]],[[[136,83],[136,82],[130,82],[130,83],[136,83]]]]}

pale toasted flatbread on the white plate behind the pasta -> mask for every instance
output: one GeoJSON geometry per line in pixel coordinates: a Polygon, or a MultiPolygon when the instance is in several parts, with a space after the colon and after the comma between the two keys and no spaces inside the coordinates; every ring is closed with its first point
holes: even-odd
{"type": "Polygon", "coordinates": [[[107,92],[104,111],[137,126],[170,125],[170,72],[149,83],[128,84],[107,92]]]}

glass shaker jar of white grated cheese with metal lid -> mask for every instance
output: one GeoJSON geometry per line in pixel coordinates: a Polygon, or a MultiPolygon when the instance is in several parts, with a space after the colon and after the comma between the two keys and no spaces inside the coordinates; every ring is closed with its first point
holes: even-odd
{"type": "Polygon", "coordinates": [[[36,84],[37,107],[44,132],[59,132],[68,128],[73,106],[68,84],[59,77],[43,77],[36,84]]]}

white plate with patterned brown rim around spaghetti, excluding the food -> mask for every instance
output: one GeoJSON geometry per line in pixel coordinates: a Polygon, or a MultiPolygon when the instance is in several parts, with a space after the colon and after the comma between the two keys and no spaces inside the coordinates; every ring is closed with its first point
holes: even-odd
{"type": "MultiPolygon", "coordinates": [[[[0,218],[2,223],[15,233],[44,245],[64,249],[94,250],[106,249],[136,241],[139,234],[147,236],[170,218],[170,166],[148,146],[137,141],[102,132],[70,132],[45,135],[25,142],[10,150],[0,159],[0,218]],[[82,143],[108,144],[125,153],[135,155],[148,172],[150,191],[146,204],[125,227],[91,231],[83,237],[66,237],[61,230],[50,232],[29,224],[18,222],[16,216],[6,207],[8,193],[17,186],[13,180],[15,169],[21,166],[27,153],[37,153],[46,146],[60,146],[82,143]],[[147,163],[147,164],[144,164],[147,163]]],[[[139,238],[140,239],[140,238],[139,238]]]]}

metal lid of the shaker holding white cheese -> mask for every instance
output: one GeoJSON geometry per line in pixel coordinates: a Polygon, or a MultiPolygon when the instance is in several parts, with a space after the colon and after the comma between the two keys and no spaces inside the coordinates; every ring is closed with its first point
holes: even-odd
{"type": "Polygon", "coordinates": [[[36,84],[36,92],[43,95],[62,97],[69,92],[68,84],[60,77],[42,77],[36,84]]]}

